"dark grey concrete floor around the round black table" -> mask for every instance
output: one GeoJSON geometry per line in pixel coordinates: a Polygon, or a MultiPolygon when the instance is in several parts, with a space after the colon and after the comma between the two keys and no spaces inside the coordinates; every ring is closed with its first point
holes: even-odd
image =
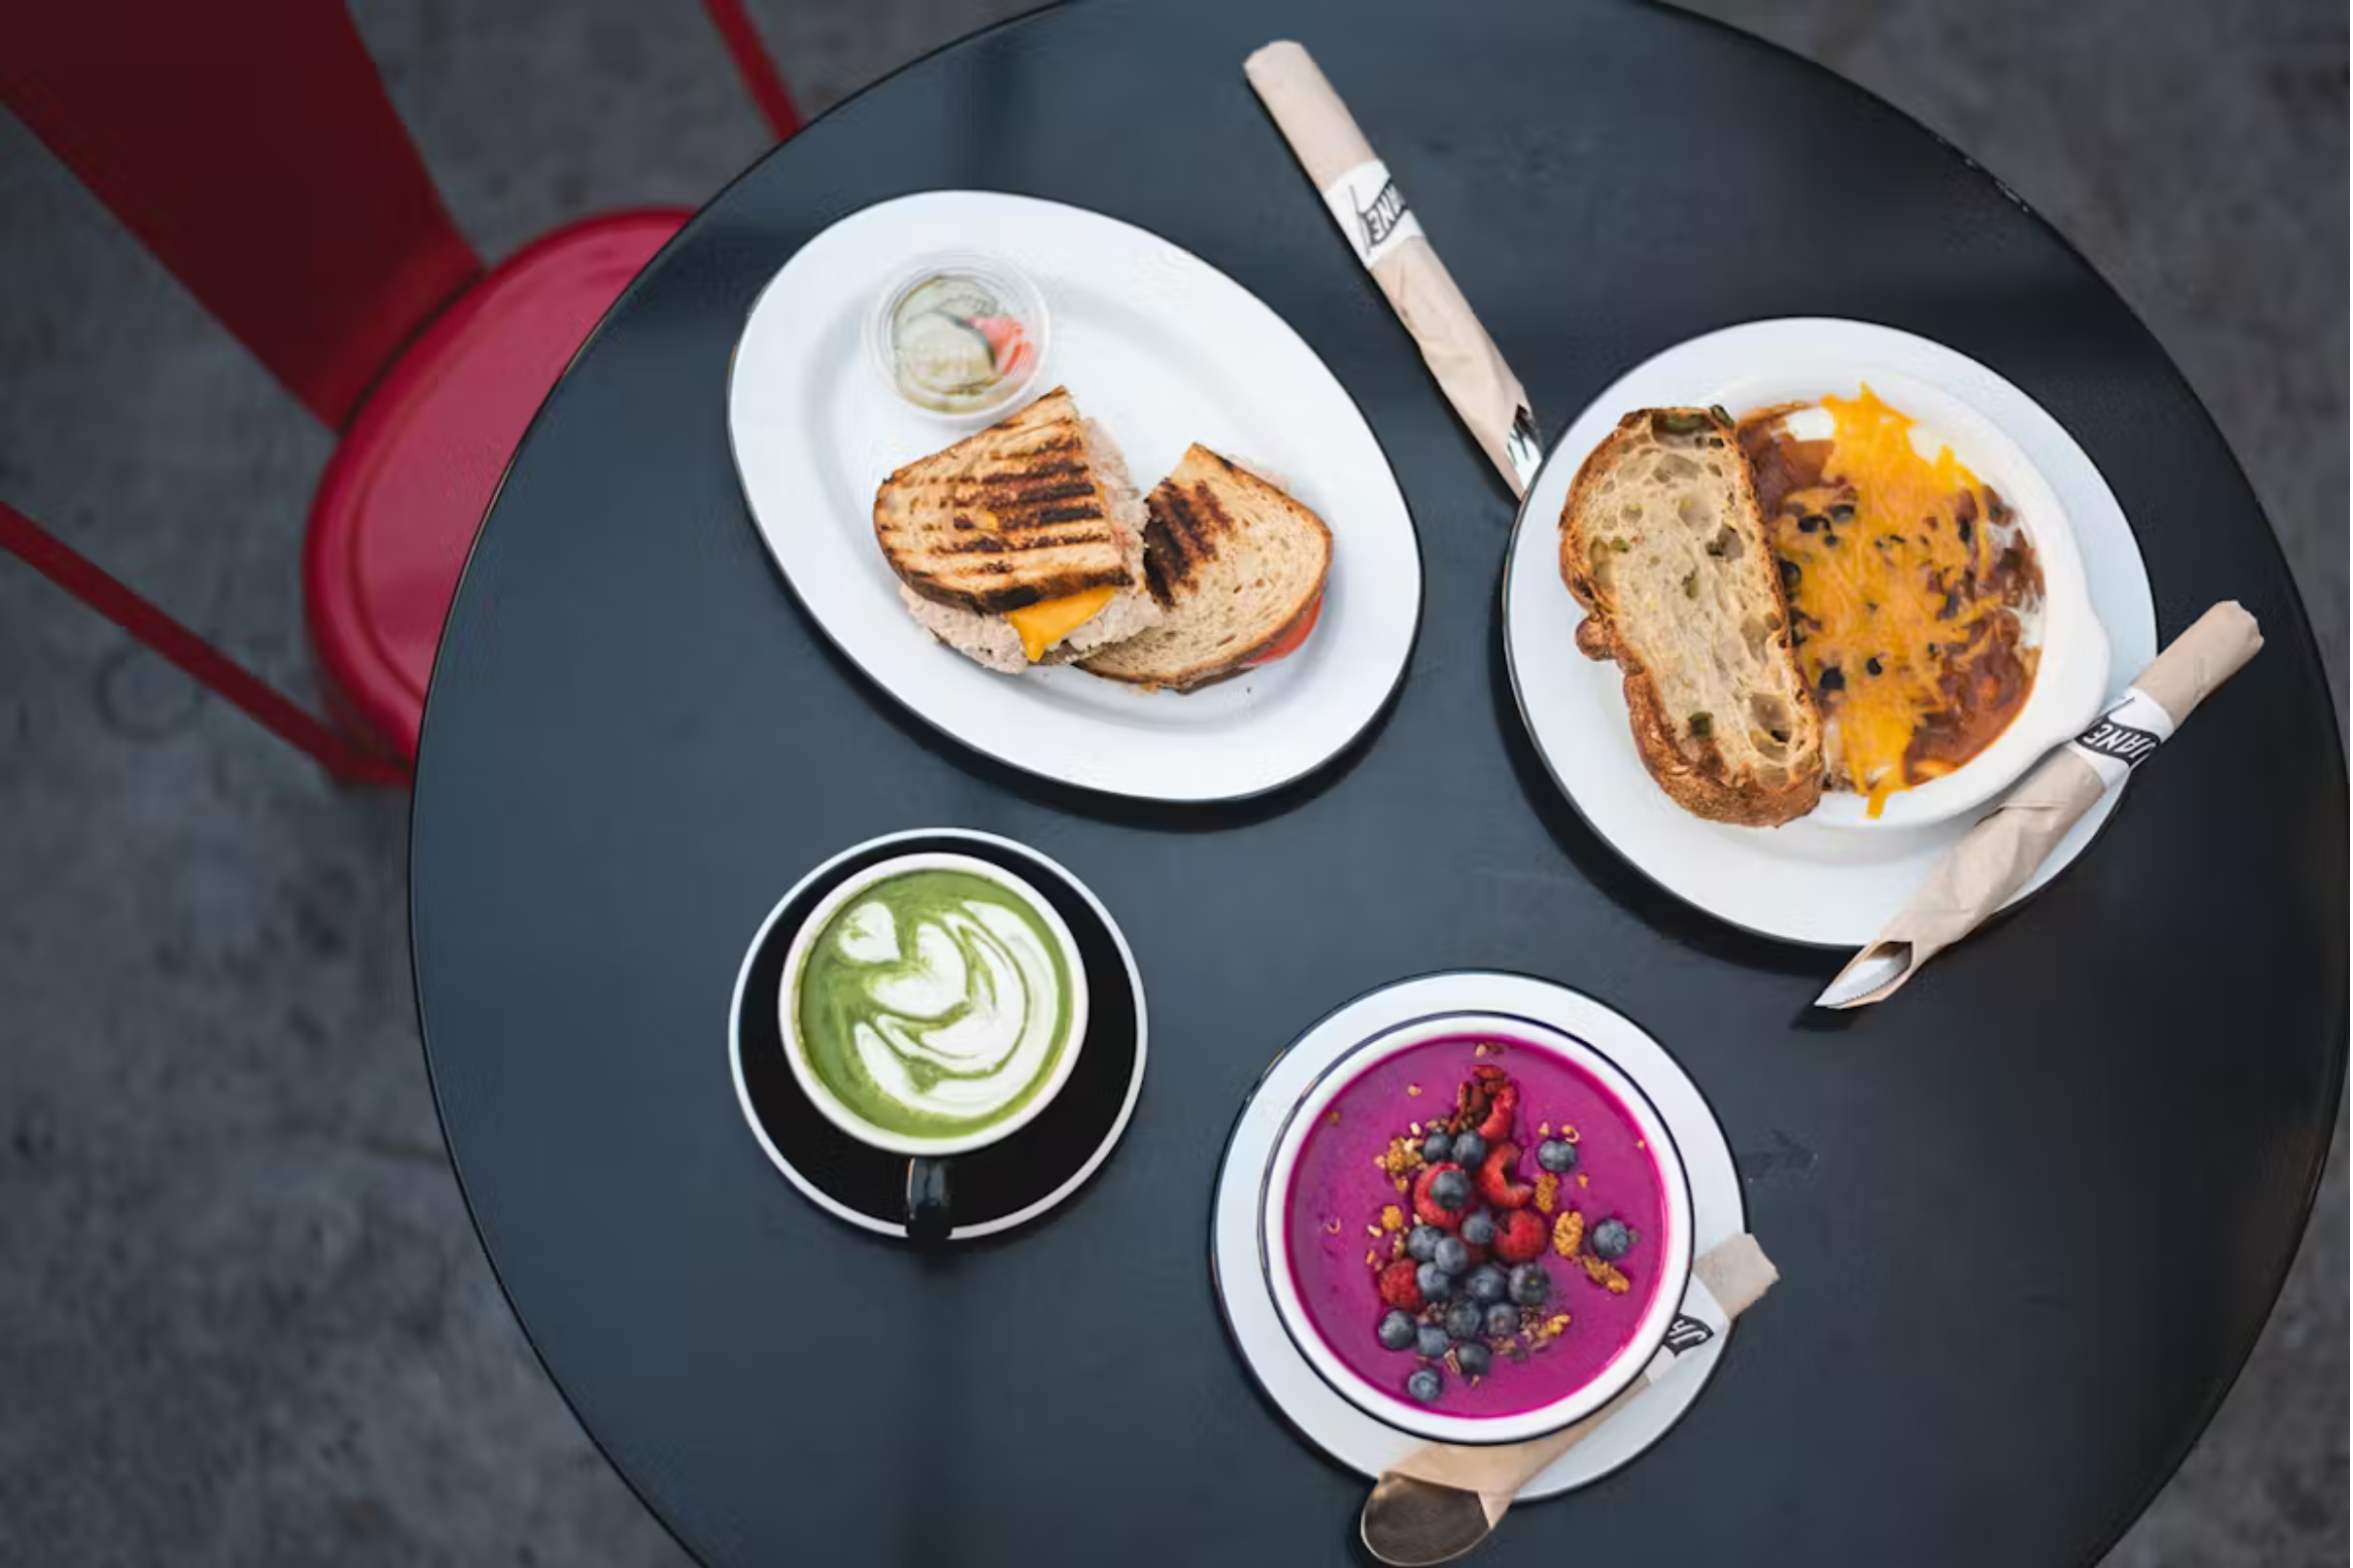
{"type": "MultiPolygon", "coordinates": [[[[355,0],[492,256],[762,132],[689,0],[355,0]]],[[[765,0],[816,110],[1007,0],[765,0]]],[[[2245,461],[2346,679],[2346,14],[1706,0],[2049,214],[2245,461]]],[[[0,496],[289,689],[318,430],[0,115],[0,496]]],[[[405,799],[329,788],[0,562],[0,1563],[680,1563],[442,1159],[405,799]]],[[[2000,1500],[1988,1497],[1988,1507],[2000,1500]]],[[[2346,1561],[2344,1133],[2221,1418],[2111,1559],[2346,1561]]]]}

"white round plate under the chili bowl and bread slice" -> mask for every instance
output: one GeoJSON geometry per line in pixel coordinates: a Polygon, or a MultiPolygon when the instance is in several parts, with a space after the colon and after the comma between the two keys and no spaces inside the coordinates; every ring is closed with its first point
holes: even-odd
{"type": "MultiPolygon", "coordinates": [[[[1852,386],[1887,369],[1939,388],[2007,435],[2066,510],[2113,649],[2111,696],[2158,656],[2158,614],[2132,524],[2082,447],[2009,381],[1908,331],[1842,320],[1725,327],[1645,360],[1577,416],[1527,491],[1504,562],[1504,651],[1544,766],[1605,844],[1685,903],[1762,936],[1857,947],[1904,907],[1981,813],[1859,832],[1814,818],[1732,827],[1682,811],[1633,748],[1619,668],[1577,651],[1584,609],[1560,581],[1560,508],[1577,465],[1617,421],[1645,407],[1720,402],[1741,411],[1741,388],[1753,388],[1760,369],[1784,383],[1819,386],[1852,386]]],[[[2111,790],[2075,823],[2019,898],[2082,853],[2115,799],[2111,790]]]]}

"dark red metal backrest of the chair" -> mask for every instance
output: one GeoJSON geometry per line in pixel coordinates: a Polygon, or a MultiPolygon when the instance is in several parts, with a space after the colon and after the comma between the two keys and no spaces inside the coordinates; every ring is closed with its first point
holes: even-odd
{"type": "Polygon", "coordinates": [[[482,270],[341,0],[0,0],[0,101],[334,428],[482,270]]]}

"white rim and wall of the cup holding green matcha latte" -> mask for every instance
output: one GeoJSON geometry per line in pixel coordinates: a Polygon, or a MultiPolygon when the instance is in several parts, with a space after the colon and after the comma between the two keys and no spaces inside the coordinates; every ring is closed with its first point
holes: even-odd
{"type": "MultiPolygon", "coordinates": [[[[951,856],[951,853],[894,856],[889,860],[878,860],[866,870],[852,872],[831,893],[816,900],[814,910],[809,910],[809,917],[800,924],[800,931],[793,933],[793,945],[784,954],[784,983],[776,990],[776,1023],[784,1032],[784,1056],[786,1063],[793,1067],[793,1079],[800,1084],[800,1093],[809,1095],[809,1105],[814,1105],[826,1121],[831,1121],[833,1126],[842,1128],[859,1143],[871,1145],[875,1150],[887,1150],[892,1154],[908,1154],[918,1159],[944,1159],[948,1154],[969,1154],[972,1150],[984,1150],[993,1143],[1012,1138],[1024,1126],[1035,1121],[1045,1112],[1045,1107],[1054,1103],[1054,1095],[1061,1093],[1064,1084],[1071,1081],[1071,1070],[1078,1065],[1078,1053],[1087,1044],[1087,966],[1080,959],[1078,940],[1071,936],[1071,926],[1064,924],[1054,905],[1047,903],[1045,896],[1038,893],[1038,889],[1033,889],[1028,882],[1012,875],[1002,865],[993,865],[974,856],[951,856]],[[1061,952],[1064,971],[1071,976],[1068,1037],[1064,1039],[1061,1058],[1047,1072],[1047,1079],[1038,1086],[1038,1093],[1031,1095],[1028,1105],[1012,1112],[1002,1121],[993,1121],[979,1131],[958,1133],[951,1138],[913,1138],[908,1133],[875,1126],[873,1121],[861,1117],[854,1107],[845,1105],[831,1088],[826,1088],[824,1079],[819,1079],[816,1072],[809,1067],[807,1051],[800,1044],[800,1006],[798,1006],[800,971],[807,964],[809,950],[816,945],[816,938],[824,936],[826,926],[833,924],[833,917],[840,910],[856,903],[875,884],[889,882],[892,877],[904,877],[908,872],[927,872],[927,870],[967,872],[984,882],[998,884],[1000,889],[1026,903],[1031,910],[1035,910],[1040,924],[1047,929],[1047,936],[1061,952]]],[[[936,1171],[911,1168],[908,1173],[911,1208],[915,1206],[913,1204],[915,1190],[929,1182],[944,1182],[944,1175],[936,1171]]]]}

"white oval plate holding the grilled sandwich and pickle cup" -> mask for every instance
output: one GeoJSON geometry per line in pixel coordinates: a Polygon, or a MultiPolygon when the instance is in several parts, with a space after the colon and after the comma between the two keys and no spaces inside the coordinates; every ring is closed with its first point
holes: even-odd
{"type": "Polygon", "coordinates": [[[1198,256],[1059,202],[929,190],[809,240],[753,303],[727,433],[760,538],[816,625],[918,717],[1026,773],[1144,799],[1264,795],[1341,752],[1405,675],[1421,552],[1355,402],[1282,317],[1198,256]],[[1024,268],[1052,315],[1038,390],[1071,388],[1139,489],[1200,442],[1280,480],[1332,529],[1322,618],[1289,658],[1191,696],[1075,668],[993,675],[899,602],[875,487],[979,421],[911,409],[868,364],[866,317],[944,244],[1024,268]]]}

